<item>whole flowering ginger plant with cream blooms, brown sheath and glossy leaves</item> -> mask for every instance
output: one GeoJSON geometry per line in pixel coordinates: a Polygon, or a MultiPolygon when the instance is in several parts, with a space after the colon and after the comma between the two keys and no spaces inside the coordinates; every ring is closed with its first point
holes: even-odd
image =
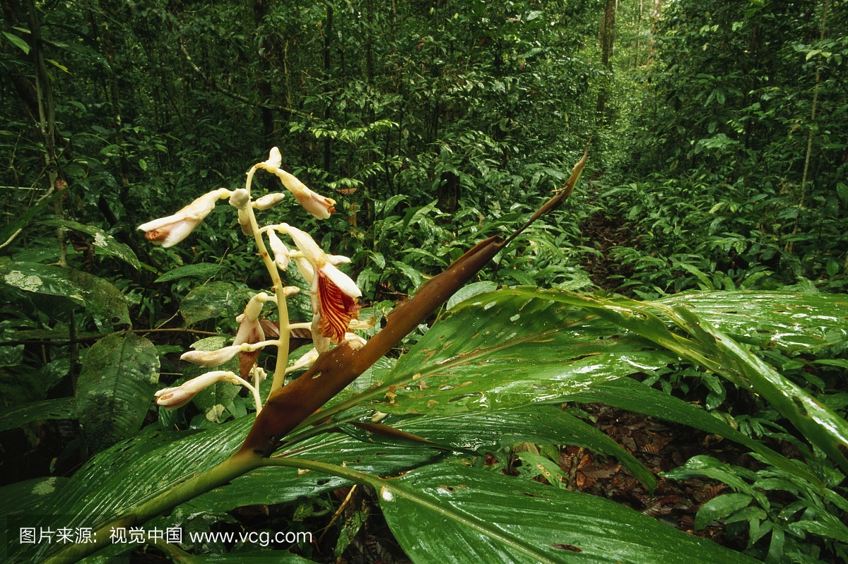
{"type": "MultiPolygon", "coordinates": [[[[522,229],[571,194],[585,158],[522,229]]],[[[257,222],[254,210],[283,197],[252,198],[257,169],[276,174],[315,217],[332,212],[332,200],[280,165],[278,153],[271,152],[248,173],[244,189],[212,191],[168,218],[142,225],[149,240],[174,245],[215,202],[228,199],[244,233],[254,236],[271,277],[270,292],[259,292],[240,312],[232,345],[183,355],[209,372],[159,390],[156,401],[180,406],[204,386],[226,381],[254,395],[255,417],[188,436],[142,434],[99,453],[39,506],[46,514],[39,526],[85,526],[92,529],[90,542],[13,545],[11,561],[70,562],[99,550],[120,554],[126,546],[113,543],[121,529],[177,523],[198,511],[293,501],[345,482],[377,491],[389,527],[416,562],[754,561],[609,500],[570,491],[567,477],[544,456],[527,456],[526,462],[538,465],[556,487],[505,476],[484,464],[483,455],[500,445],[576,444],[616,456],[652,491],[656,479],[631,452],[558,407],[563,401],[599,401],[735,440],[809,484],[833,483],[838,472],[833,467],[824,476],[695,406],[626,378],[681,358],[761,395],[832,464],[848,470],[840,452],[848,445],[845,420],[735,340],[786,351],[799,342],[810,347],[841,342],[848,335],[844,298],[723,292],[639,302],[534,287],[463,289],[519,229],[478,243],[395,307],[385,326],[363,342],[349,335],[359,290],[336,268],[344,259],[327,254],[291,224],[257,222]],[[291,239],[292,249],[281,235],[291,239]],[[288,335],[299,325],[288,322],[286,299],[294,290],[282,285],[279,273],[292,263],[310,281],[313,318],[307,324],[315,349],[297,362],[310,368],[286,383],[288,335]],[[451,298],[458,290],[462,294],[451,298]],[[416,346],[388,371],[352,386],[449,298],[448,311],[416,346]],[[280,319],[280,336],[270,340],[258,323],[269,302],[280,319]],[[267,346],[276,346],[277,360],[271,392],[262,397],[264,372],[256,361],[267,346]],[[215,369],[235,357],[238,373],[215,369]]],[[[174,542],[153,543],[176,561],[191,559],[174,542]]],[[[268,554],[274,555],[281,556],[268,554]]]]}

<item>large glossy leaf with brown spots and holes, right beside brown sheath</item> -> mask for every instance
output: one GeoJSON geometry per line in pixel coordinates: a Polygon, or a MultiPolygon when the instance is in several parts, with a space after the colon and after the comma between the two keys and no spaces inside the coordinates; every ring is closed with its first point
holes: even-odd
{"type": "Polygon", "coordinates": [[[439,319],[382,384],[350,401],[392,413],[503,409],[677,360],[555,301],[503,290],[471,300],[439,319]]]}

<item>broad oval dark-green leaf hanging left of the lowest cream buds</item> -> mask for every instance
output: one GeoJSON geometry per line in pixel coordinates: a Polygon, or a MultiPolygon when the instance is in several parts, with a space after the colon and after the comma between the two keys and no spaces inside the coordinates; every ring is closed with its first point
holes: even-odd
{"type": "Polygon", "coordinates": [[[80,425],[94,451],[136,434],[159,382],[159,355],[144,337],[114,333],[92,346],[76,390],[80,425]]]}

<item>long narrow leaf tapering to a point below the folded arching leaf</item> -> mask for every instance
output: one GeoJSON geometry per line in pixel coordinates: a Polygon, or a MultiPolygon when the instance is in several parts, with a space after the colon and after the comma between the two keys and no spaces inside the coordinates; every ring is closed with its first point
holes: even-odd
{"type": "Polygon", "coordinates": [[[820,480],[810,473],[801,462],[789,460],[789,458],[779,455],[759,441],[739,433],[718,417],[711,416],[700,407],[695,407],[686,401],[678,400],[672,395],[664,394],[632,379],[622,378],[614,382],[593,384],[587,390],[568,395],[561,400],[579,403],[603,403],[607,406],[626,409],[628,412],[642,413],[657,419],[673,421],[707,433],[717,434],[720,437],[747,446],[751,451],[755,451],[766,458],[774,466],[804,478],[813,484],[820,483],[820,480]]]}

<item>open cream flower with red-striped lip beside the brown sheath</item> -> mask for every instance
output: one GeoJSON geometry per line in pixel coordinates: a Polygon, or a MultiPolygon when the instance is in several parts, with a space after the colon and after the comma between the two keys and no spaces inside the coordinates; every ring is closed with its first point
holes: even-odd
{"type": "Polygon", "coordinates": [[[317,314],[317,319],[314,319],[317,323],[313,323],[315,329],[333,344],[340,344],[350,320],[359,317],[356,298],[362,296],[356,283],[335,266],[347,259],[326,254],[309,234],[300,229],[287,224],[278,228],[287,233],[303,253],[303,257],[295,261],[301,274],[312,284],[312,312],[317,314]]]}

